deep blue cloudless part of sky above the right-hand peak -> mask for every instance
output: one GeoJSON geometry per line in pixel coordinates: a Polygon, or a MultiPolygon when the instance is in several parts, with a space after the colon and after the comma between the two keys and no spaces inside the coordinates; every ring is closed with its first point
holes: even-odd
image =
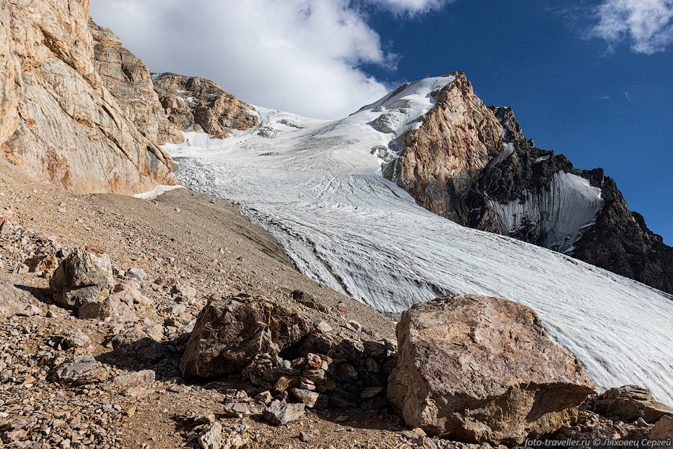
{"type": "Polygon", "coordinates": [[[587,39],[589,14],[573,10],[573,19],[549,4],[472,0],[407,20],[373,15],[400,59],[394,70],[367,70],[389,82],[465,72],[487,105],[514,109],[538,147],[576,168],[604,168],[630,208],[673,245],[672,53],[637,53],[628,40],[609,49],[587,39]]]}

